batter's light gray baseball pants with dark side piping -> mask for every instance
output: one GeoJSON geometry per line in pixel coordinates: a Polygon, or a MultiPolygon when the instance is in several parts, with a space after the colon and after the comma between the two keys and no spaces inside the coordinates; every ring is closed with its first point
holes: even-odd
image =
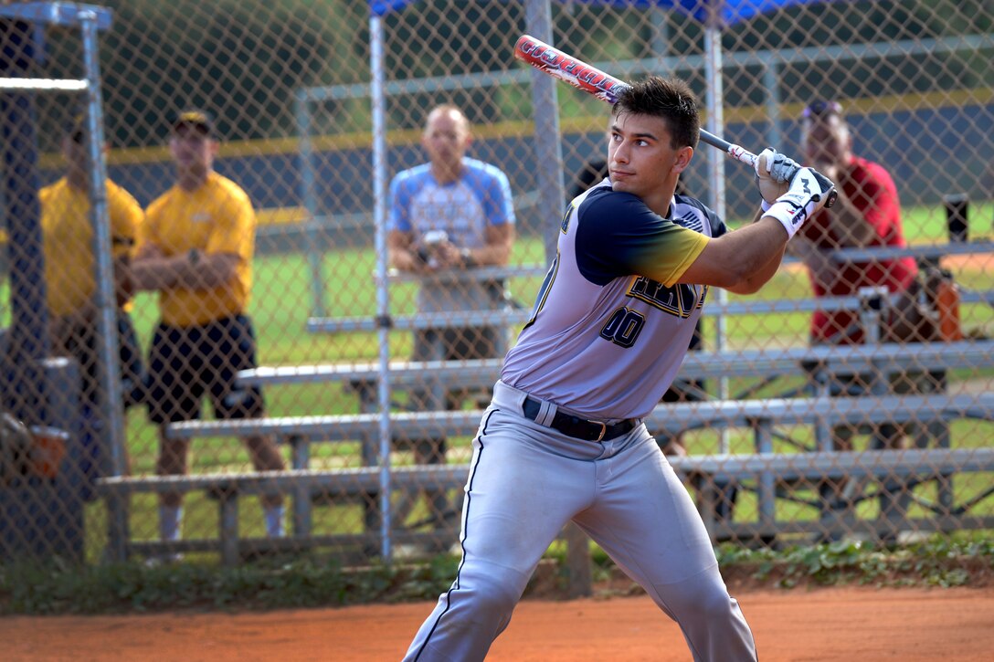
{"type": "MultiPolygon", "coordinates": [[[[645,425],[577,439],[524,417],[526,395],[501,382],[494,389],[473,440],[458,574],[405,660],[484,659],[570,520],[680,625],[695,660],[754,660],[704,523],[645,425]]],[[[551,419],[555,406],[547,410],[551,419]]]]}

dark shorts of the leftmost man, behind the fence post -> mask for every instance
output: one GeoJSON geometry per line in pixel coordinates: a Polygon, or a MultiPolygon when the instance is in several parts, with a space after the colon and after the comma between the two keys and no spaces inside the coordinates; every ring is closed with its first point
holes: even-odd
{"type": "MultiPolygon", "coordinates": [[[[99,378],[96,373],[96,323],[80,324],[69,332],[65,340],[66,348],[80,363],[80,378],[83,387],[83,406],[95,407],[99,402],[99,378]]],[[[121,366],[121,392],[124,408],[137,405],[144,400],[145,366],[142,362],[138,335],[131,323],[131,316],[124,311],[117,313],[117,354],[121,366]]]]}

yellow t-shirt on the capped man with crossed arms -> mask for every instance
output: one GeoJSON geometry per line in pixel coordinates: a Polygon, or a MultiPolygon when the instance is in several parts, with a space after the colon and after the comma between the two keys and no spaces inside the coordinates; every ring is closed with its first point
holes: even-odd
{"type": "Polygon", "coordinates": [[[174,186],[148,206],[139,249],[151,244],[168,257],[197,248],[205,254],[233,253],[241,258],[235,277],[219,287],[162,290],[159,310],[164,323],[194,326],[246,310],[255,224],[246,192],[218,173],[211,173],[196,191],[174,186]]]}

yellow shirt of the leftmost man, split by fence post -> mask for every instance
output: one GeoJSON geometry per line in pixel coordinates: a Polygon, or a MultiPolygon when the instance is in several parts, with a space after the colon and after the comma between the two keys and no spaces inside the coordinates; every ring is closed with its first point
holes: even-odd
{"type": "MultiPolygon", "coordinates": [[[[115,257],[133,254],[142,225],[141,206],[109,179],[106,189],[111,251],[115,257]]],[[[43,188],[38,197],[49,312],[54,316],[69,315],[80,310],[96,290],[89,194],[63,178],[43,188]]]]}

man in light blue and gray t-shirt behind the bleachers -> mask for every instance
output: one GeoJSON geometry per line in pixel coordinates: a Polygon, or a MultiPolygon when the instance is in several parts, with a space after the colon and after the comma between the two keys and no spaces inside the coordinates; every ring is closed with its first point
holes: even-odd
{"type": "MultiPolygon", "coordinates": [[[[496,166],[466,156],[469,120],[458,107],[442,104],[427,116],[421,146],[428,162],[397,174],[390,187],[390,264],[421,275],[421,313],[502,310],[503,281],[453,279],[452,270],[508,263],[515,237],[511,186],[496,166]]],[[[414,361],[502,358],[503,325],[446,327],[414,332],[414,361]]],[[[414,390],[410,405],[458,409],[461,396],[445,403],[430,389],[414,390]]],[[[445,439],[412,440],[418,464],[444,462],[445,439]]],[[[444,494],[429,494],[433,517],[455,514],[444,494]]]]}

